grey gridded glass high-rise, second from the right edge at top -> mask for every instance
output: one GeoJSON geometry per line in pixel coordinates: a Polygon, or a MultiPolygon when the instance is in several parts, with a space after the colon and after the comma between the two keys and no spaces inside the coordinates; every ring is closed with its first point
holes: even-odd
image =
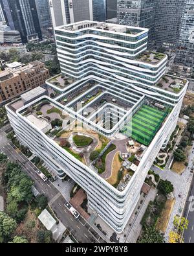
{"type": "Polygon", "coordinates": [[[177,47],[186,0],[156,0],[155,32],[156,47],[177,47]]]}

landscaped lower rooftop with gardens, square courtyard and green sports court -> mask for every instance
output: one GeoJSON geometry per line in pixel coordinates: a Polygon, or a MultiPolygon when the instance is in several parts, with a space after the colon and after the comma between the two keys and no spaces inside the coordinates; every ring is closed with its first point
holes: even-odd
{"type": "MultiPolygon", "coordinates": [[[[41,100],[37,100],[29,106],[27,105],[27,108],[23,108],[19,112],[55,143],[84,165],[87,165],[92,171],[98,173],[102,178],[105,178],[100,170],[102,160],[96,160],[96,162],[92,163],[89,155],[97,148],[100,159],[102,159],[103,154],[106,154],[103,148],[107,145],[110,146],[111,144],[109,143],[112,143],[114,145],[112,146],[113,150],[115,150],[114,154],[118,152],[123,161],[129,161],[130,163],[129,168],[127,166],[122,166],[121,168],[133,175],[147,147],[149,147],[156,133],[166,121],[171,107],[164,106],[156,100],[148,100],[142,97],[139,98],[140,107],[133,111],[133,104],[124,100],[119,93],[113,95],[98,82],[93,84],[85,83],[84,86],[81,83],[78,85],[67,89],[59,96],[58,100],[41,97],[41,100]],[[81,104],[81,108],[77,107],[78,104],[81,104]],[[30,110],[30,115],[28,110],[30,110]],[[37,111],[41,112],[41,117],[39,117],[37,111]],[[107,113],[110,111],[116,116],[118,116],[119,111],[120,115],[119,121],[116,119],[112,125],[109,125],[108,122],[111,116],[109,117],[107,113]],[[107,115],[105,120],[103,119],[103,113],[107,115]],[[126,117],[128,122],[123,125],[122,123],[126,117]],[[56,120],[59,120],[59,122],[56,122],[56,120]],[[54,122],[56,124],[53,124],[54,122]],[[50,128],[48,129],[49,124],[50,128]],[[106,133],[110,135],[102,135],[106,133]],[[78,137],[83,136],[81,137],[81,143],[85,139],[92,142],[86,148],[85,146],[76,146],[73,139],[75,135],[78,135],[78,137]],[[70,147],[65,146],[64,143],[66,142],[64,140],[69,141],[70,147]],[[128,143],[129,141],[133,141],[133,143],[128,143]],[[134,159],[131,159],[131,156],[134,159]]],[[[105,158],[105,166],[107,161],[113,163],[114,154],[109,154],[109,159],[105,158]]],[[[131,179],[130,175],[124,175],[124,180],[121,181],[121,184],[116,185],[118,190],[125,189],[131,179]]],[[[107,180],[107,182],[114,185],[110,180],[107,180]]]]}

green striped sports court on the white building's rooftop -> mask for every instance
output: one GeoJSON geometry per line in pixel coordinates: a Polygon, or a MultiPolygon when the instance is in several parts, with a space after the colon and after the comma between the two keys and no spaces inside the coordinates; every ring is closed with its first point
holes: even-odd
{"type": "Polygon", "coordinates": [[[132,137],[138,143],[148,146],[166,118],[167,113],[168,111],[158,110],[144,104],[133,115],[132,121],[124,126],[122,133],[127,137],[132,137]]]}

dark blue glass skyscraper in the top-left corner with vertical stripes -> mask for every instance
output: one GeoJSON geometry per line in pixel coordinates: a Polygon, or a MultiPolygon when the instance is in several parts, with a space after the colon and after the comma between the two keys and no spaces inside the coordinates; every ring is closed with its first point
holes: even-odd
{"type": "Polygon", "coordinates": [[[41,40],[41,27],[35,0],[0,0],[6,23],[18,30],[23,43],[41,40]]]}

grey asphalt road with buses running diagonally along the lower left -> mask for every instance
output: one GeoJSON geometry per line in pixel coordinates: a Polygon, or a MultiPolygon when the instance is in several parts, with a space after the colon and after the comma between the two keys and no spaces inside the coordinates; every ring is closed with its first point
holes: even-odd
{"type": "Polygon", "coordinates": [[[98,243],[105,242],[105,240],[94,231],[94,229],[80,216],[79,220],[76,220],[74,216],[64,206],[66,200],[61,193],[52,185],[50,181],[44,183],[38,174],[36,174],[36,167],[28,161],[21,152],[15,150],[12,145],[6,140],[5,133],[0,130],[0,152],[3,151],[9,157],[10,161],[17,161],[23,166],[23,170],[27,172],[28,176],[34,181],[34,186],[42,194],[45,194],[48,198],[48,204],[52,207],[56,216],[61,220],[63,225],[67,227],[72,235],[76,237],[78,242],[81,243],[98,243]],[[93,234],[93,235],[92,235],[93,234]]]}

